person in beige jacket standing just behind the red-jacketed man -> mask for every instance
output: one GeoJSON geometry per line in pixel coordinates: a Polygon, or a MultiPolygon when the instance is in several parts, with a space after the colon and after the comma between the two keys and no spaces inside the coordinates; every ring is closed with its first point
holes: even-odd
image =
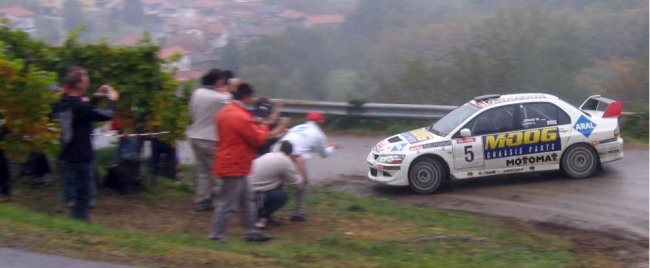
{"type": "Polygon", "coordinates": [[[196,158],[196,177],[194,179],[194,210],[213,209],[213,194],[217,192],[217,181],[212,176],[212,162],[219,141],[215,127],[217,112],[230,101],[231,94],[221,77],[219,69],[208,71],[201,78],[203,87],[194,90],[190,97],[192,125],[187,130],[194,157],[196,158]]]}

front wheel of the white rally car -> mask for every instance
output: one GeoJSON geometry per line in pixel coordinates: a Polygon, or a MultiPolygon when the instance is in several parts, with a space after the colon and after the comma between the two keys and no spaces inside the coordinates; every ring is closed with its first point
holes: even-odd
{"type": "Polygon", "coordinates": [[[417,194],[436,192],[446,179],[445,165],[437,159],[420,158],[409,168],[409,187],[417,194]]]}

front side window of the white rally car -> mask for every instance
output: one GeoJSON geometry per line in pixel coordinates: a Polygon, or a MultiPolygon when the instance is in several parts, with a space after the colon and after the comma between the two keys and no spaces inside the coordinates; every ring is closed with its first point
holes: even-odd
{"type": "Polygon", "coordinates": [[[515,106],[496,107],[487,110],[465,125],[472,136],[515,130],[515,106]]]}

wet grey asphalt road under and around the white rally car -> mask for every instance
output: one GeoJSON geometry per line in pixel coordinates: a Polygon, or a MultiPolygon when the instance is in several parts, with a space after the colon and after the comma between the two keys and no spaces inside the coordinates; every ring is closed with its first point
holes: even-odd
{"type": "Polygon", "coordinates": [[[383,186],[366,179],[366,156],[380,139],[330,137],[343,148],[330,158],[308,163],[314,183],[418,206],[554,223],[648,240],[647,147],[626,146],[623,160],[605,164],[602,173],[588,179],[570,179],[560,172],[511,175],[463,181],[453,188],[421,196],[408,187],[383,186]]]}

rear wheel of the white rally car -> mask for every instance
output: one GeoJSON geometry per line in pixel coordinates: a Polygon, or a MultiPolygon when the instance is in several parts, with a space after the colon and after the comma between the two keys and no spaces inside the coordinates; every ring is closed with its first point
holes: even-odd
{"type": "Polygon", "coordinates": [[[574,179],[593,176],[600,166],[596,151],[586,144],[576,144],[564,151],[561,160],[562,171],[574,179]]]}

